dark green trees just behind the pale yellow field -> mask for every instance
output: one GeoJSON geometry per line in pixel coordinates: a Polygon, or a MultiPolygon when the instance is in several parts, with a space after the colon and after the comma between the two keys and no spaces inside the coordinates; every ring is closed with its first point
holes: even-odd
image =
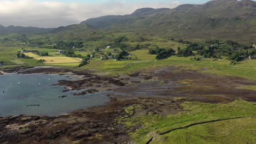
{"type": "Polygon", "coordinates": [[[75,48],[82,48],[84,45],[83,45],[83,42],[82,41],[79,41],[79,42],[68,42],[68,43],[65,43],[64,41],[59,41],[58,43],[56,43],[56,45],[54,45],[52,48],[53,49],[62,49],[62,50],[70,50],[72,49],[73,47],[75,48]]]}

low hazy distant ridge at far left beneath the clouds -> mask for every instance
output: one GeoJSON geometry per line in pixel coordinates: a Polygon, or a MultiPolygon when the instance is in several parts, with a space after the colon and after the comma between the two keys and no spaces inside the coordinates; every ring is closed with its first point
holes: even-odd
{"type": "Polygon", "coordinates": [[[53,31],[55,28],[38,28],[38,27],[21,27],[21,26],[8,26],[4,27],[0,25],[0,34],[10,34],[10,33],[18,33],[18,34],[40,34],[40,33],[48,33],[53,31]]]}

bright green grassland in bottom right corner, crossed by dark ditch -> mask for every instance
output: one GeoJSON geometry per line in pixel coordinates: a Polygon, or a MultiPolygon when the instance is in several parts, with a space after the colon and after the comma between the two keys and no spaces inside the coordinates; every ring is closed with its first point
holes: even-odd
{"type": "MultiPolygon", "coordinates": [[[[141,125],[141,129],[130,133],[136,143],[255,143],[256,105],[243,100],[229,104],[208,104],[187,101],[182,103],[184,111],[163,117],[158,114],[132,116],[119,120],[127,128],[141,125]],[[235,119],[232,119],[235,118],[235,119]],[[211,122],[224,119],[223,121],[211,122]],[[225,120],[226,119],[226,120],[225,120]],[[168,130],[198,124],[189,128],[168,130]]],[[[136,107],[134,108],[136,109],[136,107]]],[[[139,107],[137,107],[139,109],[139,107]]]]}

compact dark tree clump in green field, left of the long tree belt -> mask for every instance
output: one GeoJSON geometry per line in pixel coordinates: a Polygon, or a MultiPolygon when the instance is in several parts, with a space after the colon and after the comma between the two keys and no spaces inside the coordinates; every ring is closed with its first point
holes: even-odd
{"type": "Polygon", "coordinates": [[[164,59],[166,57],[170,57],[174,54],[174,52],[175,51],[173,49],[164,49],[159,47],[154,47],[148,50],[150,55],[156,55],[156,59],[164,59]]]}

